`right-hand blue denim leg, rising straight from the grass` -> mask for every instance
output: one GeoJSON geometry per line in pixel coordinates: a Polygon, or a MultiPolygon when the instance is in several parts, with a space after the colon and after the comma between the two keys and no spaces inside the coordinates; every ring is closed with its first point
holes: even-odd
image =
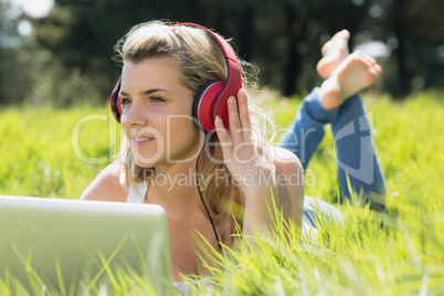
{"type": "Polygon", "coordinates": [[[341,190],[351,199],[347,177],[353,192],[371,201],[371,207],[383,210],[385,179],[378,157],[367,108],[359,94],[348,98],[331,121],[336,144],[336,161],[341,190]],[[376,204],[374,204],[376,203],[376,204]]]}

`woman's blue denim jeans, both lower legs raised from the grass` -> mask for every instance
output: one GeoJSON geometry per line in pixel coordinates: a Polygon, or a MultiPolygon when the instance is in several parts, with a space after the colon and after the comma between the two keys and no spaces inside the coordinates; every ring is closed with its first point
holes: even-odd
{"type": "MultiPolygon", "coordinates": [[[[320,105],[318,92],[319,88],[315,88],[304,98],[278,146],[294,152],[305,170],[325,135],[324,126],[330,124],[341,193],[353,202],[353,192],[360,202],[370,202],[371,208],[384,210],[385,178],[360,95],[356,94],[340,107],[328,110],[320,105]]],[[[310,198],[308,202],[311,202],[310,198]]],[[[320,209],[325,207],[321,200],[317,202],[320,209]]]]}

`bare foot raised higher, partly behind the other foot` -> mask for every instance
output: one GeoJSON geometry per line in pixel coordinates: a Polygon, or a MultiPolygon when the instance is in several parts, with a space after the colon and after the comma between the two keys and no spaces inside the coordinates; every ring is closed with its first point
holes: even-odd
{"type": "Polygon", "coordinates": [[[340,63],[349,55],[348,40],[350,32],[342,30],[336,33],[321,49],[323,59],[318,62],[316,70],[323,78],[327,78],[340,63]]]}

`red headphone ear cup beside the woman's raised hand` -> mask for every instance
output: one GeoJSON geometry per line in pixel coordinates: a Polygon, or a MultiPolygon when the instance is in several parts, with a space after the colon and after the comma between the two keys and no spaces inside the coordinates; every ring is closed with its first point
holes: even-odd
{"type": "Polygon", "coordinates": [[[214,129],[214,103],[224,86],[224,82],[210,81],[205,83],[195,95],[192,105],[192,117],[199,129],[205,131],[214,129]]]}

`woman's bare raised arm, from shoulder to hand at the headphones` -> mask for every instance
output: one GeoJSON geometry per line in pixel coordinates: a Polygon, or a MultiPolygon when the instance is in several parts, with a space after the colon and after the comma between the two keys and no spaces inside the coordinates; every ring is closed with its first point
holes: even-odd
{"type": "Polygon", "coordinates": [[[273,223],[274,209],[283,210],[284,219],[300,225],[304,203],[303,168],[289,151],[267,145],[252,128],[246,93],[228,103],[230,133],[220,118],[215,120],[223,158],[234,181],[245,195],[243,232],[253,235],[273,223]],[[297,180],[295,180],[297,178],[297,180]],[[275,202],[273,202],[273,198],[275,202]]]}

